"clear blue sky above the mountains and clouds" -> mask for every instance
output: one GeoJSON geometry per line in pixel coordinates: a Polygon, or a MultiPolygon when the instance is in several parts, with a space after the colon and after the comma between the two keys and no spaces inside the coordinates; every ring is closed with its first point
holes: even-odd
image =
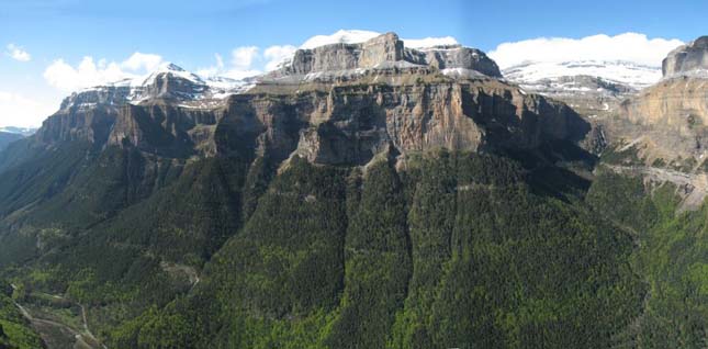
{"type": "MultiPolygon", "coordinates": [[[[406,38],[449,35],[486,52],[536,37],[626,32],[685,42],[708,34],[706,13],[708,1],[699,0],[0,0],[0,126],[46,116],[18,119],[16,108],[1,105],[3,95],[5,104],[56,109],[67,90],[48,83],[45,72],[58,59],[77,67],[87,56],[121,63],[139,52],[198,70],[216,65],[216,54],[228,65],[238,47],[263,53],[340,29],[394,31],[406,38]],[[13,59],[15,48],[29,55],[15,58],[30,59],[13,59]]],[[[265,64],[261,57],[250,68],[265,64]]]]}

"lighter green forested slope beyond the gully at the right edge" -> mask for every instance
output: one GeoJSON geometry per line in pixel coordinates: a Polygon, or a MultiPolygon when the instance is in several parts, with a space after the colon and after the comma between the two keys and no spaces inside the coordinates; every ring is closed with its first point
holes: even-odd
{"type": "Polygon", "coordinates": [[[636,232],[631,262],[649,291],[623,342],[634,348],[708,346],[708,206],[677,213],[674,185],[645,188],[641,178],[605,171],[588,201],[636,232]]]}

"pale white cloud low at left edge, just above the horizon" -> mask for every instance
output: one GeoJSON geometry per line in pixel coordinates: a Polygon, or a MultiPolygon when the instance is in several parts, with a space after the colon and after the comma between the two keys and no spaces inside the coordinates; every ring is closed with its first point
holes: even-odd
{"type": "Polygon", "coordinates": [[[36,127],[57,108],[56,101],[43,103],[19,93],[0,91],[0,126],[36,127]]]}

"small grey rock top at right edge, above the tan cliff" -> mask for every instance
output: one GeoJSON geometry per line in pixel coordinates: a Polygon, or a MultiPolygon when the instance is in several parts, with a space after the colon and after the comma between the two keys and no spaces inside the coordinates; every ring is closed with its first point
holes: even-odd
{"type": "Polygon", "coordinates": [[[662,63],[664,77],[708,69],[708,36],[672,50],[662,63]]]}

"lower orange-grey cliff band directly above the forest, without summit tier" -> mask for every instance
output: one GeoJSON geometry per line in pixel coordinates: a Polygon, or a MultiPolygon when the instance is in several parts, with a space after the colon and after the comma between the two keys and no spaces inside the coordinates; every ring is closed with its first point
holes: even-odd
{"type": "Polygon", "coordinates": [[[552,139],[580,140],[588,131],[564,104],[496,80],[355,80],[296,94],[241,94],[209,111],[128,105],[109,145],[182,158],[236,154],[282,160],[294,153],[314,164],[364,165],[383,150],[530,149],[552,139]]]}

